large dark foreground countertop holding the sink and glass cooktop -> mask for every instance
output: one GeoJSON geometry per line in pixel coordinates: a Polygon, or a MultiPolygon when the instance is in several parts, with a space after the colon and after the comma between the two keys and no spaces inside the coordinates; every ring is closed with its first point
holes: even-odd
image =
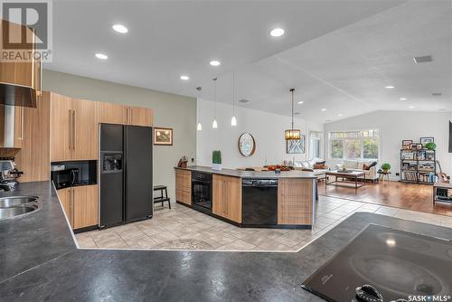
{"type": "Polygon", "coordinates": [[[78,250],[52,185],[19,190],[42,209],[0,222],[2,301],[322,301],[300,284],[369,223],[452,240],[449,228],[355,213],[297,253],[78,250]]]}

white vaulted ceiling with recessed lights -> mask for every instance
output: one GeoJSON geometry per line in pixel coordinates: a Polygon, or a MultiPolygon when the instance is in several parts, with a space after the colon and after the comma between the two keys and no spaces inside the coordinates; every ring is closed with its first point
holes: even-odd
{"type": "Polygon", "coordinates": [[[238,99],[250,99],[240,106],[289,115],[295,87],[299,116],[318,122],[409,106],[452,110],[450,1],[59,1],[53,24],[44,68],[54,71],[189,96],[202,86],[202,99],[212,99],[218,76],[223,102],[232,101],[235,71],[238,99]],[[116,23],[129,33],[114,33],[116,23]],[[278,26],[287,34],[270,37],[278,26]],[[426,54],[434,61],[414,64],[426,54]]]}

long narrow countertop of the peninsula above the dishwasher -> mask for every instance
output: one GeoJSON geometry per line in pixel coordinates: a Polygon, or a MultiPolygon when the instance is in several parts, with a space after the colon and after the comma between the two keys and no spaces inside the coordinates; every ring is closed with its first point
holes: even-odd
{"type": "Polygon", "coordinates": [[[283,171],[280,173],[275,173],[274,171],[240,171],[234,169],[221,169],[213,170],[209,166],[193,165],[187,166],[186,168],[174,167],[174,169],[188,170],[188,171],[199,171],[204,173],[211,173],[215,175],[228,175],[240,178],[308,178],[315,179],[313,172],[304,171],[283,171]]]}

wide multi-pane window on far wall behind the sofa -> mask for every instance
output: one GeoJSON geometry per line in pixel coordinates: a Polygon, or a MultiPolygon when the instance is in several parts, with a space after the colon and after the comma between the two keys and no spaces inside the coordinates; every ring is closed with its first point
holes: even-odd
{"type": "Polygon", "coordinates": [[[329,134],[332,159],[378,159],[380,131],[336,131],[329,134]]]}

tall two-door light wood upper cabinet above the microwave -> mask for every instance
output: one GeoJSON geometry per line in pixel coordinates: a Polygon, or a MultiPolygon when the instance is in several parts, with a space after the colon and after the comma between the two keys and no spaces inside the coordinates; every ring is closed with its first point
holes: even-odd
{"type": "Polygon", "coordinates": [[[51,160],[98,158],[98,104],[51,94],[51,160]]]}

